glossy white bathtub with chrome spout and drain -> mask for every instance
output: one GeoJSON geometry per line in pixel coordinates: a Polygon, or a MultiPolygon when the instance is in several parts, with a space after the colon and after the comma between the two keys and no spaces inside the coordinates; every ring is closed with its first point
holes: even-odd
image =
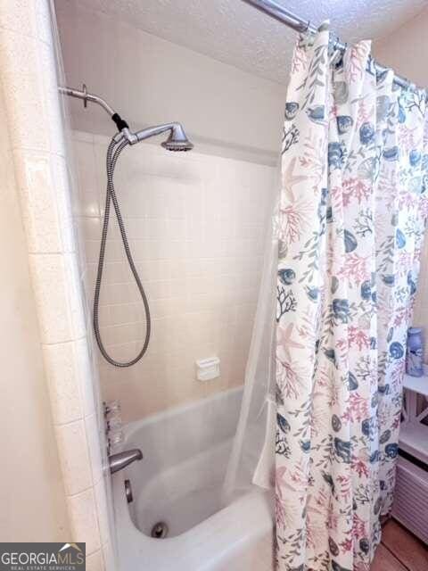
{"type": "Polygon", "coordinates": [[[271,494],[251,486],[220,504],[241,397],[234,389],[125,426],[123,449],[144,459],[112,476],[120,571],[271,571],[271,494]],[[154,539],[159,522],[168,534],[154,539]]]}

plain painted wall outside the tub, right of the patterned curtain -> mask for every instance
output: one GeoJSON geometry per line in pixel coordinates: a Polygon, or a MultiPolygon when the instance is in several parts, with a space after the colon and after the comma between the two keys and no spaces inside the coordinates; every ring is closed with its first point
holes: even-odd
{"type": "MultiPolygon", "coordinates": [[[[428,9],[408,21],[394,34],[374,44],[374,56],[391,66],[399,75],[407,77],[419,87],[428,88],[428,9]]],[[[413,324],[428,332],[428,236],[425,236],[422,266],[413,324]]],[[[427,337],[428,341],[428,337],[427,337]]],[[[428,349],[425,360],[428,359],[428,349]]]]}

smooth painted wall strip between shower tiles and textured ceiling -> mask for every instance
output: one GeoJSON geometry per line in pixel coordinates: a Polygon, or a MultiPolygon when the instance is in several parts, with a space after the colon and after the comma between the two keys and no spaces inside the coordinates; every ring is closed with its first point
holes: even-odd
{"type": "MultiPolygon", "coordinates": [[[[284,85],[252,76],[128,23],[57,0],[67,81],[117,108],[133,128],[179,120],[210,153],[276,161],[284,85]],[[221,149],[218,149],[218,146],[221,149]]],[[[74,127],[109,134],[101,109],[72,104],[74,127]]]]}

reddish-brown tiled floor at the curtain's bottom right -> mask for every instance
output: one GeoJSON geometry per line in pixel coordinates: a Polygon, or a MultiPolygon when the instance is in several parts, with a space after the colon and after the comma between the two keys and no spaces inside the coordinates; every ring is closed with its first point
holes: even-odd
{"type": "Polygon", "coordinates": [[[370,571],[428,571],[428,548],[391,519],[383,527],[370,571]]]}

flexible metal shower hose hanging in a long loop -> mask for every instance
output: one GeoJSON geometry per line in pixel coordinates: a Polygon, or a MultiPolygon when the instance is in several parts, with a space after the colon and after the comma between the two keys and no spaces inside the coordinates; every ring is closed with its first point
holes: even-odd
{"type": "Polygon", "coordinates": [[[94,296],[94,330],[95,330],[95,339],[96,343],[98,343],[98,347],[103,355],[103,358],[107,360],[111,365],[114,367],[131,367],[135,365],[147,351],[147,347],[150,341],[150,332],[151,332],[151,320],[150,320],[150,310],[149,310],[149,303],[147,302],[147,297],[144,292],[143,284],[141,283],[140,277],[138,276],[138,272],[136,270],[136,265],[132,258],[131,250],[128,244],[128,236],[125,230],[125,226],[123,224],[122,215],[119,209],[118,198],[116,196],[116,191],[114,189],[113,183],[113,174],[114,168],[116,166],[116,162],[119,159],[119,154],[122,150],[128,145],[128,140],[123,139],[119,143],[115,141],[113,137],[111,139],[111,143],[107,150],[107,157],[106,157],[106,165],[107,165],[107,191],[105,197],[105,211],[104,211],[104,222],[103,222],[103,234],[101,236],[101,246],[100,246],[100,257],[98,259],[98,269],[96,272],[96,281],[95,281],[95,296],[94,296]],[[136,280],[136,286],[141,294],[141,299],[143,300],[144,304],[144,312],[145,312],[145,339],[144,344],[141,351],[136,355],[136,357],[132,360],[127,362],[120,362],[118,360],[114,360],[111,358],[109,353],[105,350],[103,345],[103,340],[100,335],[100,327],[99,327],[99,303],[100,303],[100,291],[101,291],[101,284],[103,282],[103,266],[104,266],[104,257],[105,257],[105,245],[107,241],[107,232],[109,230],[109,220],[110,220],[110,208],[111,202],[113,203],[114,211],[116,212],[116,218],[118,219],[120,236],[122,238],[123,248],[125,250],[129,268],[136,280]]]}

